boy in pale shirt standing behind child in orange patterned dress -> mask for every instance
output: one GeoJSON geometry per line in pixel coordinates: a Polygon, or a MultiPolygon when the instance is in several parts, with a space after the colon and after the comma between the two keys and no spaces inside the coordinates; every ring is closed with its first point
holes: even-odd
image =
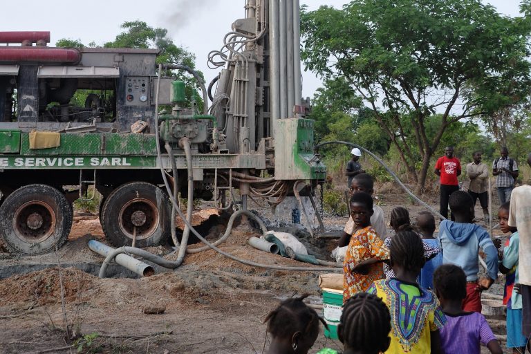
{"type": "MultiPolygon", "coordinates": [[[[353,177],[351,182],[351,187],[349,189],[349,192],[351,196],[355,194],[356,192],[365,192],[368,194],[373,194],[374,192],[374,180],[373,177],[370,174],[357,174],[353,177]]],[[[378,236],[380,236],[380,239],[384,240],[387,228],[385,226],[384,221],[384,211],[381,207],[378,205],[373,205],[373,216],[371,216],[371,225],[373,225],[373,229],[375,232],[378,233],[378,236]]],[[[343,235],[337,241],[338,247],[344,247],[348,245],[348,243],[351,241],[351,236],[354,233],[355,230],[355,224],[352,220],[352,217],[348,217],[348,222],[345,225],[343,235]]]]}

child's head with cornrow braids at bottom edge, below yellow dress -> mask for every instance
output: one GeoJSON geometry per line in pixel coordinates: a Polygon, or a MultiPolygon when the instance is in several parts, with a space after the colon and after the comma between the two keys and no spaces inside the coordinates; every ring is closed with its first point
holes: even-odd
{"type": "Polygon", "coordinates": [[[337,337],[344,345],[344,354],[378,354],[389,348],[391,315],[382,299],[361,292],[343,306],[337,326],[337,337]]]}

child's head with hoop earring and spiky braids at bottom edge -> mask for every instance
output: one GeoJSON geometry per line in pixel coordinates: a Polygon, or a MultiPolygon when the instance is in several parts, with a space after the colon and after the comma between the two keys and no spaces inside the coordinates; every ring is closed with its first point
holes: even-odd
{"type": "Polygon", "coordinates": [[[326,323],[313,308],[304,304],[302,297],[282,301],[272,310],[264,322],[272,339],[268,354],[306,354],[319,335],[319,321],[326,323]]]}

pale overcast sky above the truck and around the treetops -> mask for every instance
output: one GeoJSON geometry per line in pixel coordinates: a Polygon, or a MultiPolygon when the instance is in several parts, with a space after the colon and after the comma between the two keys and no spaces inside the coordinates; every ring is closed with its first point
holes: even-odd
{"type": "MultiPolygon", "coordinates": [[[[483,0],[498,8],[503,15],[519,15],[519,0],[483,0]]],[[[308,10],[328,5],[335,8],[348,0],[301,0],[308,10]]],[[[90,4],[68,0],[25,0],[24,8],[17,1],[2,3],[0,31],[49,30],[51,45],[58,39],[79,39],[88,45],[102,45],[122,32],[124,21],[139,19],[149,26],[167,28],[169,37],[178,46],[196,55],[196,68],[210,82],[218,71],[207,67],[207,55],[219,50],[223,36],[236,19],[244,17],[245,0],[92,0],[90,4]],[[149,4],[149,8],[147,8],[149,4]]],[[[302,66],[304,69],[304,66],[302,66]]],[[[313,97],[321,81],[303,71],[303,97],[313,97]]]]}

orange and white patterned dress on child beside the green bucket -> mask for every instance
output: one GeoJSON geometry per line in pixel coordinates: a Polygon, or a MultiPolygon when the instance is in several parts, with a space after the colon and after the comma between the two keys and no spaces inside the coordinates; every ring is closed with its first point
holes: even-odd
{"type": "Polygon", "coordinates": [[[389,259],[389,249],[369,225],[356,230],[348,243],[343,262],[343,301],[350,299],[357,292],[366,291],[373,281],[383,279],[382,263],[369,265],[369,273],[366,275],[352,272],[357,263],[371,258],[382,261],[389,259]]]}

